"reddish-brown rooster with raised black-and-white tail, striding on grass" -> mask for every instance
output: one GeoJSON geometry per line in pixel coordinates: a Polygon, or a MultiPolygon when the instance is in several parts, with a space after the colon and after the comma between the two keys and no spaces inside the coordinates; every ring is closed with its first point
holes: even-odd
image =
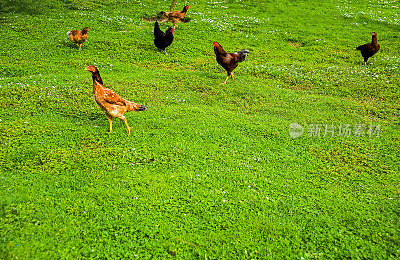
{"type": "Polygon", "coordinates": [[[214,41],[214,53],[216,55],[216,62],[226,70],[227,77],[225,81],[222,82],[222,84],[226,84],[229,76],[234,79],[232,71],[237,67],[237,63],[243,61],[247,53],[251,52],[242,49],[235,53],[227,53],[218,42],[214,41]]]}

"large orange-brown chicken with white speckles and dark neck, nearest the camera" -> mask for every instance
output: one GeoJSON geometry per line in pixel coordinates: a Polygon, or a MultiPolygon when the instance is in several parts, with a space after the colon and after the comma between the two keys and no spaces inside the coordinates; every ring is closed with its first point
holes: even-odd
{"type": "Polygon", "coordinates": [[[123,99],[111,89],[105,88],[100,73],[95,66],[89,65],[85,70],[88,70],[93,78],[93,98],[97,106],[108,118],[109,131],[112,132],[112,117],[118,117],[123,120],[128,129],[128,134],[130,134],[130,129],[133,127],[129,127],[126,117],[123,114],[129,111],[143,111],[147,107],[123,99]]]}

